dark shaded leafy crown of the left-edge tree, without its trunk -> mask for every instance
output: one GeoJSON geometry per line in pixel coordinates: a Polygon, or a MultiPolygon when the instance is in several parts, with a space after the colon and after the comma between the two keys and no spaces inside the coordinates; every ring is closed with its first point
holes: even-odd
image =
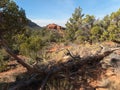
{"type": "Polygon", "coordinates": [[[27,24],[25,11],[12,0],[1,0],[0,2],[0,34],[8,37],[23,32],[27,24]]]}

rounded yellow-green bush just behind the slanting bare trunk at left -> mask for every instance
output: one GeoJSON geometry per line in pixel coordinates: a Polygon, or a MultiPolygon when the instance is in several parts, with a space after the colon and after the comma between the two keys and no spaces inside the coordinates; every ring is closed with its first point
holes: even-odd
{"type": "Polygon", "coordinates": [[[39,35],[31,34],[28,36],[26,33],[19,34],[14,37],[14,49],[18,49],[20,50],[21,54],[35,59],[35,57],[37,57],[37,52],[43,46],[42,39],[39,35]]]}

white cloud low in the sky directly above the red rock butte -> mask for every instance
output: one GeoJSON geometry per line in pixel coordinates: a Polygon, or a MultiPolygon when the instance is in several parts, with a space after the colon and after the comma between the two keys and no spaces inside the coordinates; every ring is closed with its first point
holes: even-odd
{"type": "Polygon", "coordinates": [[[33,22],[37,23],[40,26],[46,26],[51,23],[55,23],[61,26],[65,26],[67,20],[52,20],[52,19],[32,19],[33,22]]]}

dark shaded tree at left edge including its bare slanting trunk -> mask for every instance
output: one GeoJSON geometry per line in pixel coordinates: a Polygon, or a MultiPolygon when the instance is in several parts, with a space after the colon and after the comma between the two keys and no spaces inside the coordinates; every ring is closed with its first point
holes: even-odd
{"type": "Polygon", "coordinates": [[[29,71],[33,71],[30,65],[11,51],[5,40],[7,37],[11,38],[12,35],[23,32],[26,24],[27,18],[23,9],[20,9],[12,0],[0,0],[0,45],[20,64],[29,71]]]}

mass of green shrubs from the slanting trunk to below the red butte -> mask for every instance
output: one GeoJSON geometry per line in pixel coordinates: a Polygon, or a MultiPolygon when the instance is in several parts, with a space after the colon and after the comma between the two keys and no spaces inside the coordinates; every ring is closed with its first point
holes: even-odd
{"type": "Polygon", "coordinates": [[[13,37],[13,50],[20,50],[22,55],[35,60],[36,57],[42,57],[40,52],[48,47],[52,42],[61,42],[61,35],[52,30],[26,30],[23,34],[17,34],[13,37]]]}

